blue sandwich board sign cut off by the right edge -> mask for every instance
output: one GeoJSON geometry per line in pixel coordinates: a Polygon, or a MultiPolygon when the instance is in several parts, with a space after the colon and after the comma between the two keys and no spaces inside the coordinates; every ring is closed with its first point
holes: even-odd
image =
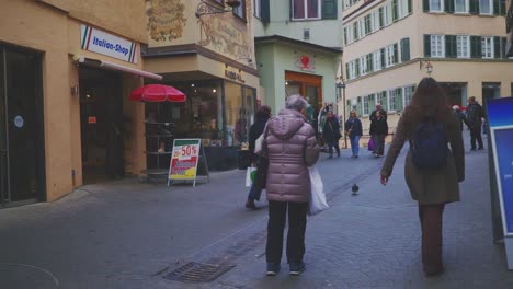
{"type": "Polygon", "coordinates": [[[504,230],[508,268],[513,269],[513,97],[488,102],[493,162],[504,230]]]}

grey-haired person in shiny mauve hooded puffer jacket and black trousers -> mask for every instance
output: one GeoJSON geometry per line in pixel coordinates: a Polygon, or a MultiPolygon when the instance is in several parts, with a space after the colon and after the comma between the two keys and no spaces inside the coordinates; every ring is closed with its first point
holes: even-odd
{"type": "Polygon", "coordinates": [[[303,115],[307,102],[296,94],[287,97],[285,107],[267,122],[267,137],[262,146],[262,157],[269,160],[267,276],[280,271],[287,209],[286,256],[290,275],[305,270],[305,230],[311,193],[308,166],[316,164],[320,152],[316,132],[303,115]]]}

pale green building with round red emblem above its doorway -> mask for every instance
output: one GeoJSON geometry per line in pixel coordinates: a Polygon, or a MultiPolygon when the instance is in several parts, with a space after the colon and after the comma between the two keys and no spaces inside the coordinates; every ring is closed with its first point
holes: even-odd
{"type": "Polygon", "coordinates": [[[341,0],[253,0],[256,62],[265,103],[273,113],[299,93],[317,122],[324,103],[337,103],[342,57],[341,0]]]}

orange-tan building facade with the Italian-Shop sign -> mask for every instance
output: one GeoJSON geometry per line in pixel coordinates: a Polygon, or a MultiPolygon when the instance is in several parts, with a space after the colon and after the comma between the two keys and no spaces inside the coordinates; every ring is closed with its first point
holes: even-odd
{"type": "Polygon", "coordinates": [[[1,0],[0,203],[52,201],[145,167],[145,4],[1,0]],[[123,7],[123,9],[119,9],[123,7]]]}

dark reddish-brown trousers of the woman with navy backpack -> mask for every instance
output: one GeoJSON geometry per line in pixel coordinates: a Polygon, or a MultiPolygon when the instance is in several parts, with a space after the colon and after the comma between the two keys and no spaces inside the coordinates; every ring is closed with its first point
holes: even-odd
{"type": "Polygon", "coordinates": [[[443,268],[442,223],[444,207],[444,204],[419,204],[419,217],[422,228],[422,264],[426,273],[438,271],[443,268]]]}

